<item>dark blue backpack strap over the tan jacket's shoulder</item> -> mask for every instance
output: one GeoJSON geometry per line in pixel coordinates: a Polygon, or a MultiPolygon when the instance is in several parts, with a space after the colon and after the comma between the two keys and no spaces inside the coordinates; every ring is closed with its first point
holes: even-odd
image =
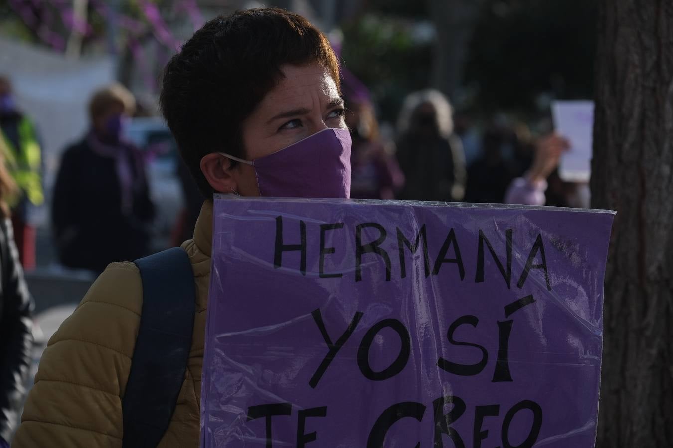
{"type": "Polygon", "coordinates": [[[187,254],[169,249],[135,261],[143,312],[122,402],[123,448],[153,448],[166,433],[192,347],[196,292],[187,254]]]}

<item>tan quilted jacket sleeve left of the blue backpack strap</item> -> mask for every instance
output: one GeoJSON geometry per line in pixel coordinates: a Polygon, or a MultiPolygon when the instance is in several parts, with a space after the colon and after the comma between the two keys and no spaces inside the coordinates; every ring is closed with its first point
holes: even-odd
{"type": "Polygon", "coordinates": [[[141,306],[137,267],[108,266],[50,339],[13,447],[122,446],[122,397],[141,306]]]}

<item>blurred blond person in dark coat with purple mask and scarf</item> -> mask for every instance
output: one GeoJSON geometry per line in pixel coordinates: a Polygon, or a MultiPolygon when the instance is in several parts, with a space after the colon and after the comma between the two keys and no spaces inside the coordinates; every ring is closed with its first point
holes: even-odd
{"type": "Polygon", "coordinates": [[[122,138],[134,108],[122,85],[100,89],[89,105],[90,131],[63,154],[52,224],[67,267],[101,273],[113,261],[149,253],[155,210],[145,161],[122,138]]]}

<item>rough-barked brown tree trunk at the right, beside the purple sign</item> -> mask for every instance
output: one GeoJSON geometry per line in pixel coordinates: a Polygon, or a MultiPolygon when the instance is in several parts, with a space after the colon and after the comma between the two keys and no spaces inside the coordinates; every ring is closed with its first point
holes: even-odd
{"type": "Polygon", "coordinates": [[[592,201],[617,210],[600,448],[673,446],[673,2],[600,0],[592,201]]]}

